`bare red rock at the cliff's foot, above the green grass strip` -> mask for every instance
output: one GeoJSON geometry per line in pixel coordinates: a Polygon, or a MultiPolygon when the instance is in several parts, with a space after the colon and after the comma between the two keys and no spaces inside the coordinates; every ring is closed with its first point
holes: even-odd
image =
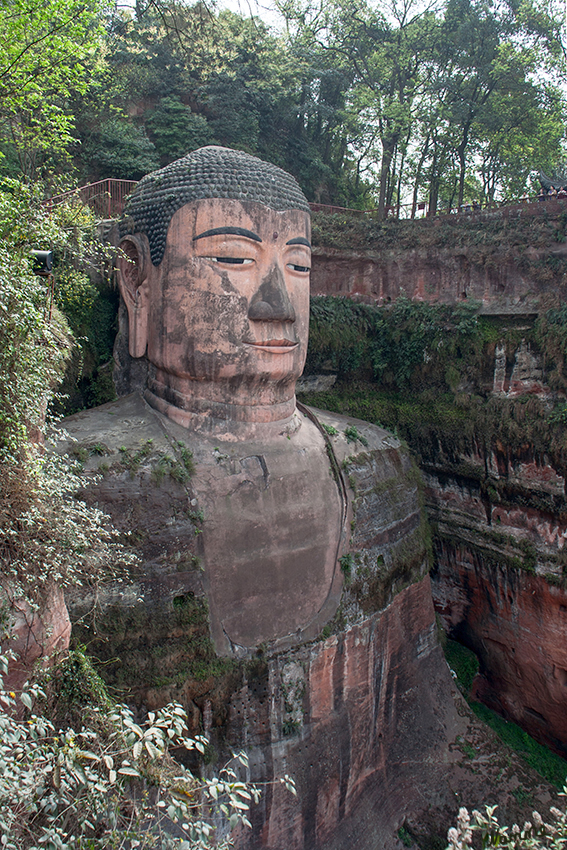
{"type": "Polygon", "coordinates": [[[567,593],[541,576],[443,545],[435,604],[449,633],[480,661],[475,695],[567,756],[567,593]]]}

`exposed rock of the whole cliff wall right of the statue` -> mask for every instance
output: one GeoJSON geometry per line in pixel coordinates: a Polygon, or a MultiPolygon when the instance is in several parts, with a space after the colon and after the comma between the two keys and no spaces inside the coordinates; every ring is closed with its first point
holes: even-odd
{"type": "MultiPolygon", "coordinates": [[[[527,220],[529,212],[511,211],[510,218],[527,220]]],[[[525,241],[514,244],[522,227],[529,238],[524,223],[508,241],[506,227],[500,226],[498,247],[494,240],[490,243],[497,228],[491,232],[487,217],[482,226],[477,222],[465,247],[451,246],[449,227],[445,244],[440,238],[437,247],[429,249],[380,250],[378,240],[376,250],[319,247],[312,281],[313,292],[320,295],[377,304],[394,302],[402,293],[431,303],[475,299],[482,305],[482,315],[494,315],[476,374],[469,369],[466,380],[460,379],[450,392],[447,385],[429,386],[423,396],[414,376],[416,415],[424,420],[404,433],[426,482],[435,541],[435,605],[449,634],[479,656],[477,696],[567,755],[567,691],[562,684],[567,611],[565,363],[560,342],[542,353],[534,333],[535,316],[544,313],[546,305],[565,300],[567,248],[562,241],[564,212],[557,204],[549,209],[542,205],[530,214],[538,219],[549,215],[549,223],[557,226],[547,232],[546,245],[543,230],[538,247],[526,246],[525,241]],[[490,248],[483,248],[484,237],[490,248]],[[555,389],[546,384],[546,375],[553,376],[555,389]],[[446,396],[431,412],[435,392],[446,396]],[[480,411],[474,424],[463,421],[459,397],[471,422],[480,411]],[[495,424],[498,410],[508,417],[501,420],[502,427],[495,424]],[[534,434],[536,421],[555,422],[553,440],[551,428],[541,432],[549,435],[547,445],[534,434]]],[[[431,241],[435,227],[445,225],[431,223],[427,236],[431,241]]],[[[457,230],[462,242],[463,231],[457,230]]],[[[405,237],[407,242],[407,233],[405,237]]],[[[420,238],[425,241],[416,228],[415,239],[420,238]]],[[[540,338],[539,342],[542,347],[547,344],[540,338]]],[[[450,363],[445,366],[450,368],[450,363]]],[[[461,378],[462,374],[464,370],[461,378]]],[[[344,399],[346,393],[341,392],[344,399]]],[[[371,399],[372,389],[364,392],[371,399]]],[[[359,392],[359,397],[363,395],[359,392]]],[[[406,395],[404,403],[410,402],[410,394],[406,395]]],[[[356,397],[355,393],[346,409],[356,410],[356,397]]],[[[387,399],[384,408],[386,404],[387,399]]]]}

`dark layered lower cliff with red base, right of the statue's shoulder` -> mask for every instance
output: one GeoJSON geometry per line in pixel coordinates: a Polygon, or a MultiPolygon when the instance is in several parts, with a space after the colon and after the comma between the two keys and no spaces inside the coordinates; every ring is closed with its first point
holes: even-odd
{"type": "MultiPolygon", "coordinates": [[[[521,342],[494,393],[552,400],[521,342]]],[[[434,528],[433,594],[448,633],[476,652],[476,696],[567,756],[567,501],[562,464],[524,444],[422,465],[434,528]]]]}

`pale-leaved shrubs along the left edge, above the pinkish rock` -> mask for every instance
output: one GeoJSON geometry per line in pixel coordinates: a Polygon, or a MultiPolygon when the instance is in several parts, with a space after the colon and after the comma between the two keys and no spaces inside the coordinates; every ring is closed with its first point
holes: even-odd
{"type": "Polygon", "coordinates": [[[91,286],[83,269],[98,250],[87,210],[50,211],[37,187],[0,182],[0,583],[9,599],[34,604],[53,582],[97,581],[131,561],[105,517],[74,500],[73,471],[37,449],[83,332],[77,316],[91,286]],[[34,273],[33,249],[53,250],[54,279],[34,273]],[[54,286],[67,280],[64,299],[54,286]]]}

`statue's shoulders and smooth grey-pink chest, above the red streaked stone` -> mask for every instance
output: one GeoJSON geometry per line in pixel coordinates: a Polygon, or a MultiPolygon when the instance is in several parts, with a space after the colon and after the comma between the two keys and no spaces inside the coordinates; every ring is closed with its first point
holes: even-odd
{"type": "Polygon", "coordinates": [[[415,471],[399,441],[368,423],[305,411],[279,440],[223,443],[132,395],[70,417],[65,430],[60,451],[89,455],[81,495],[140,555],[140,593],[170,607],[206,594],[220,654],[315,637],[337,610],[343,571],[351,618],[381,610],[423,575],[415,471]],[[184,470],[186,451],[194,475],[184,470]]]}

